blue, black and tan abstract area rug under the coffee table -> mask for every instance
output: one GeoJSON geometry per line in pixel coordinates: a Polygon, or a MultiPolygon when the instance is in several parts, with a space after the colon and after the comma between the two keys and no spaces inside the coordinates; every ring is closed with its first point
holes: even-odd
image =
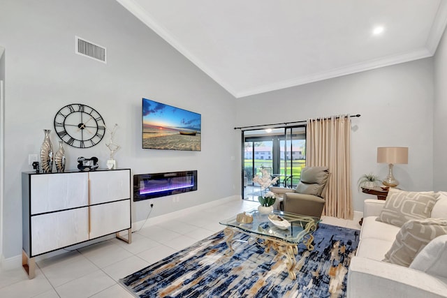
{"type": "MultiPolygon", "coordinates": [[[[320,223],[314,250],[298,246],[295,281],[284,257],[257,244],[235,241],[234,254],[226,256],[223,231],[119,281],[135,297],[345,297],[359,233],[320,223]]],[[[249,236],[236,233],[233,239],[249,236]]]]}

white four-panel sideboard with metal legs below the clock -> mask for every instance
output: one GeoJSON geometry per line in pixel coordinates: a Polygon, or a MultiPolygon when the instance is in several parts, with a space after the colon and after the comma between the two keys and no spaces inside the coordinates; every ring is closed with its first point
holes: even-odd
{"type": "Polygon", "coordinates": [[[22,230],[29,278],[37,255],[113,233],[131,243],[131,170],[22,173],[22,230]]]}

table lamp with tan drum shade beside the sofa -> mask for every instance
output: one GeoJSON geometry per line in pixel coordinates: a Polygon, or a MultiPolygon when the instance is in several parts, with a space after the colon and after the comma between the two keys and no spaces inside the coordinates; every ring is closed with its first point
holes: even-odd
{"type": "Polygon", "coordinates": [[[408,147],[377,147],[377,163],[388,163],[388,176],[382,181],[383,185],[395,187],[399,181],[393,176],[395,163],[408,163],[408,147]]]}

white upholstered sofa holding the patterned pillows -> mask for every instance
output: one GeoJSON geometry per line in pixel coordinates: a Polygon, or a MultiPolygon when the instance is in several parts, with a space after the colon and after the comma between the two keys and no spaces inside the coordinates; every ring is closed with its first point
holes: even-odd
{"type": "MultiPolygon", "coordinates": [[[[435,276],[412,269],[411,265],[403,267],[382,261],[400,231],[395,225],[376,221],[385,202],[365,200],[360,242],[349,266],[347,297],[447,297],[447,274],[435,276]]],[[[447,193],[439,196],[435,207],[430,217],[447,218],[447,193]]],[[[441,237],[447,243],[447,236],[441,237]]],[[[447,252],[442,257],[445,259],[447,252]]],[[[441,271],[447,272],[447,267],[441,271]]]]}

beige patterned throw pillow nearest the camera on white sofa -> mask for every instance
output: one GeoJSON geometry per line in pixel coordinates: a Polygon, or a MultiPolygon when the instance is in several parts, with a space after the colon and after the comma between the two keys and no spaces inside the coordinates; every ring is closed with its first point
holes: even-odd
{"type": "Polygon", "coordinates": [[[383,261],[409,267],[432,239],[447,234],[447,219],[426,218],[406,222],[396,235],[383,261]]]}

